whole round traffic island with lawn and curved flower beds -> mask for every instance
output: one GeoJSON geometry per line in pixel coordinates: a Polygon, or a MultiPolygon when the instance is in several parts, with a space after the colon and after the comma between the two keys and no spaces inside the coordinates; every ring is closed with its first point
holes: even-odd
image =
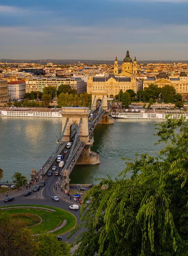
{"type": "Polygon", "coordinates": [[[2,212],[10,215],[13,221],[23,222],[23,226],[34,235],[52,232],[60,235],[72,230],[77,221],[75,216],[64,209],[44,205],[11,205],[0,207],[2,212]]]}

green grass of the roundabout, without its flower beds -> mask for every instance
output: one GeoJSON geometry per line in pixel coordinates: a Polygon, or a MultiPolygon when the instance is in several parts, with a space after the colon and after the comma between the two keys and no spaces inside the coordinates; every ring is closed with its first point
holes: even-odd
{"type": "MultiPolygon", "coordinates": [[[[35,227],[30,227],[33,234],[39,234],[45,230],[53,230],[64,219],[67,220],[67,224],[60,230],[55,231],[53,234],[60,235],[60,234],[66,233],[69,230],[71,230],[76,224],[75,216],[72,215],[70,212],[67,212],[60,208],[56,208],[56,207],[54,208],[54,207],[50,207],[50,206],[46,207],[43,205],[17,205],[17,206],[35,206],[35,207],[45,207],[45,208],[49,208],[49,209],[55,209],[55,212],[47,212],[43,209],[31,209],[31,208],[3,210],[3,212],[9,213],[9,214],[30,213],[30,214],[35,214],[35,215],[40,216],[44,220],[44,222],[40,223],[39,225],[37,225],[35,227]],[[45,228],[45,219],[46,219],[46,228],[45,228]]],[[[2,207],[0,207],[0,208],[2,208],[2,207]]],[[[7,207],[7,208],[9,208],[9,207],[7,207]]]]}

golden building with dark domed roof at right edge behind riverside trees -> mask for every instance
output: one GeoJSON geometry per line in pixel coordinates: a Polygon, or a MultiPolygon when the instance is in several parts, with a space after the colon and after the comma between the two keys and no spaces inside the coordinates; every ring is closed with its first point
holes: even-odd
{"type": "Polygon", "coordinates": [[[166,73],[159,73],[155,77],[148,77],[143,81],[143,89],[149,84],[157,84],[163,87],[166,84],[174,86],[176,93],[182,94],[184,99],[188,99],[188,76],[185,72],[181,72],[178,78],[169,77],[166,73]]]}

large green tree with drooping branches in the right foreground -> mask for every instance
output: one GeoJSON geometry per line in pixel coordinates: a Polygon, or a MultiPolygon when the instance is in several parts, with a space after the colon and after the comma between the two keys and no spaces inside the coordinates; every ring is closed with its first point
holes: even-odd
{"type": "Polygon", "coordinates": [[[84,197],[72,234],[87,231],[74,255],[188,255],[188,122],[169,118],[156,129],[158,143],[166,144],[159,157],[123,158],[119,178],[100,179],[84,197]]]}

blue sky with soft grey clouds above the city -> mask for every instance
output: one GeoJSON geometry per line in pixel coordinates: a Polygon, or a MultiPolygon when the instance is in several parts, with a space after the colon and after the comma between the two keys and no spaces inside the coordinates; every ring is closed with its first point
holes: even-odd
{"type": "Polygon", "coordinates": [[[188,0],[0,0],[0,58],[188,60],[188,0]]]}

